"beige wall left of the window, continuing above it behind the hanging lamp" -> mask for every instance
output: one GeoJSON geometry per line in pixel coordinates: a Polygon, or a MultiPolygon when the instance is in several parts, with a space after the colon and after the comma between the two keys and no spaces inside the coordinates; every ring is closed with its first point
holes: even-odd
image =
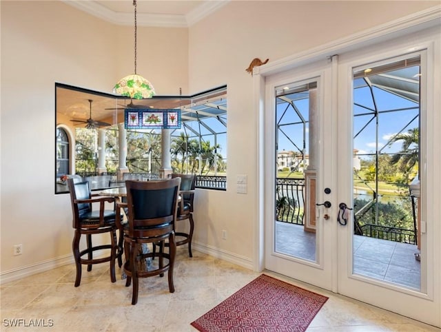
{"type": "MultiPolygon", "coordinates": [[[[188,30],[138,28],[138,72],[187,93],[188,30]]],[[[1,273],[71,259],[68,195],[54,195],[54,83],[112,92],[134,69],[133,27],[61,1],[1,1],[1,273]],[[12,247],[23,244],[23,255],[12,247]]],[[[3,278],[3,276],[2,276],[3,278]]]]}

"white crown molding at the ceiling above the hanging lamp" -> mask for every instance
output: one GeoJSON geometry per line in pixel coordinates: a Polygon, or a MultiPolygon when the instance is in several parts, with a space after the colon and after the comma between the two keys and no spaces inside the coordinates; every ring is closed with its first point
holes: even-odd
{"type": "MultiPolygon", "coordinates": [[[[76,9],[108,21],[116,25],[133,25],[133,14],[127,12],[114,12],[95,1],[61,0],[76,9]]],[[[230,0],[212,0],[201,3],[186,15],[173,14],[147,14],[138,12],[136,21],[140,26],[188,28],[190,25],[201,21],[219,8],[225,6],[230,0]]]]}

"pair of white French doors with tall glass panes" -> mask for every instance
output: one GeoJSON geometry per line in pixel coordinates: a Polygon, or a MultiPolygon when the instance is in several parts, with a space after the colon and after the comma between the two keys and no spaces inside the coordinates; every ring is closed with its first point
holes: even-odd
{"type": "Polygon", "coordinates": [[[378,45],[265,78],[265,268],[440,326],[432,52],[378,45]]]}

